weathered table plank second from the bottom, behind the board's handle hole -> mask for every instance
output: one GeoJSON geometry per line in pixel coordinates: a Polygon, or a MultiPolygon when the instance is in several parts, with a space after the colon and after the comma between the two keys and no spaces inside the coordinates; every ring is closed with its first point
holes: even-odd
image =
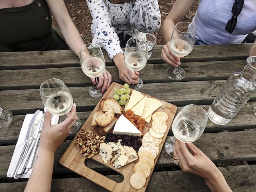
{"type": "MultiPolygon", "coordinates": [[[[169,137],[169,136],[168,136],[169,137]]],[[[167,138],[168,138],[167,137],[167,138]]],[[[234,161],[256,161],[256,131],[206,133],[194,142],[214,163],[234,161]]],[[[55,154],[54,173],[70,173],[59,164],[59,159],[67,150],[71,142],[63,142],[55,154]]],[[[11,162],[15,145],[1,146],[0,150],[0,178],[5,178],[11,162]]],[[[77,149],[79,150],[79,149],[77,149]]],[[[86,161],[86,165],[94,170],[108,170],[106,166],[86,161]]],[[[156,167],[175,166],[173,159],[168,156],[163,147],[156,167]]]]}

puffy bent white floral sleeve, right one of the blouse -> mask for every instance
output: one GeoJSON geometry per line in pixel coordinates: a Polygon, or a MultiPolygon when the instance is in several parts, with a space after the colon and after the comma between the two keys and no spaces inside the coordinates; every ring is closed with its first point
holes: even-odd
{"type": "Polygon", "coordinates": [[[130,14],[130,24],[144,33],[154,33],[161,27],[161,13],[157,0],[136,0],[130,14]]]}

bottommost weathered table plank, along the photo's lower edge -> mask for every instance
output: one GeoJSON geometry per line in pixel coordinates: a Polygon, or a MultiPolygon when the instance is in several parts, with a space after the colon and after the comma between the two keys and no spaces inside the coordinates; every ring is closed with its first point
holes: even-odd
{"type": "MultiPolygon", "coordinates": [[[[231,167],[219,167],[220,172],[224,175],[229,187],[233,192],[253,192],[256,188],[256,165],[242,165],[231,167]]],[[[121,176],[107,176],[114,181],[121,181],[121,176]]],[[[27,182],[1,183],[0,188],[3,192],[23,191],[27,182]]],[[[88,191],[106,192],[103,188],[89,180],[78,178],[53,179],[52,190],[70,192],[70,191],[88,191]],[[77,184],[76,184],[77,183],[77,184]],[[79,183],[79,184],[78,184],[79,183]]],[[[178,171],[153,172],[146,192],[210,192],[202,178],[192,174],[178,171]],[[159,186],[159,183],[161,185],[159,186]]]]}

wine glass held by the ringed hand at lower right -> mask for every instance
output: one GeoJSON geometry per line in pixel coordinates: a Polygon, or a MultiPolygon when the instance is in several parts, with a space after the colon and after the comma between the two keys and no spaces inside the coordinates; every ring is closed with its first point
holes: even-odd
{"type": "Polygon", "coordinates": [[[186,105],[173,120],[174,136],[165,142],[166,152],[173,157],[175,138],[184,143],[196,141],[204,132],[208,120],[207,113],[198,105],[186,105]]]}

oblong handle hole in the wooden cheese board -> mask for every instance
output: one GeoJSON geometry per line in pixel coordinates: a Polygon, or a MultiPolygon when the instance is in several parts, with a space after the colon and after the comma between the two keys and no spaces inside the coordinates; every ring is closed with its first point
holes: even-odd
{"type": "MultiPolygon", "coordinates": [[[[94,159],[86,159],[85,160],[85,166],[86,167],[102,167],[102,163],[99,163],[98,161],[95,161],[94,159]]],[[[104,165],[106,166],[106,165],[104,165]]],[[[108,179],[111,179],[117,183],[121,183],[124,181],[124,176],[120,174],[119,172],[116,172],[115,170],[109,168],[106,166],[106,169],[100,168],[101,171],[97,170],[97,168],[93,169],[94,171],[98,172],[99,174],[102,174],[103,176],[111,175],[111,177],[108,177],[108,179]]]]}

